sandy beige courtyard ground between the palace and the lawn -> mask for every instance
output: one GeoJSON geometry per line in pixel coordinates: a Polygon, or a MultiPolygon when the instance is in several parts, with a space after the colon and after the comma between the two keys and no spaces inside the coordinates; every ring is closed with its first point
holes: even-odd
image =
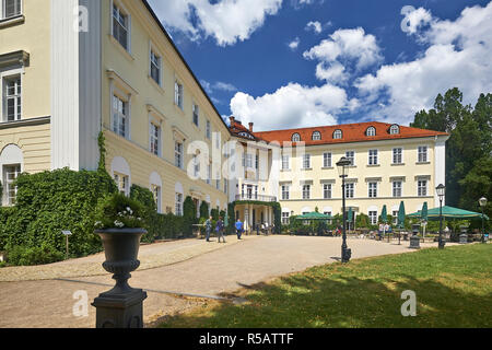
{"type": "MultiPolygon", "coordinates": [[[[414,252],[403,241],[397,245],[352,238],[348,244],[353,259],[414,252]]],[[[422,247],[436,244],[425,243],[422,247]]],[[[229,236],[226,245],[199,240],[160,243],[141,247],[139,259],[143,268],[134,271],[129,282],[148,291],[143,316],[150,324],[247,285],[335,262],[340,250],[339,237],[245,236],[237,242],[235,236],[229,236]]],[[[99,254],[57,262],[39,267],[42,276],[24,268],[10,268],[7,272],[0,269],[0,278],[10,280],[0,282],[0,327],[94,327],[95,308],[90,303],[114,285],[109,273],[95,270],[103,261],[104,255],[99,254]],[[91,266],[94,270],[84,270],[91,266]],[[63,269],[71,272],[63,275],[63,269]],[[31,273],[31,278],[23,278],[22,273],[31,273]],[[87,316],[73,315],[78,291],[86,292],[87,316]]]]}

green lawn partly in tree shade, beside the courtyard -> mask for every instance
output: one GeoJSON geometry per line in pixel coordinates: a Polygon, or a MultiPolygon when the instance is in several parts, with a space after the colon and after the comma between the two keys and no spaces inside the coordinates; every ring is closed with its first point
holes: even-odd
{"type": "Polygon", "coordinates": [[[491,269],[491,244],[337,262],[243,289],[245,304],[209,302],[161,327],[490,328],[491,269]],[[406,290],[417,294],[415,317],[401,315],[406,290]]]}

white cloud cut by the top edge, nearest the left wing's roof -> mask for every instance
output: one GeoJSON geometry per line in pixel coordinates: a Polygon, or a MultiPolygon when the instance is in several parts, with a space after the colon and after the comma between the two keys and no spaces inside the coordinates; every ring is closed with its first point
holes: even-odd
{"type": "Polygon", "coordinates": [[[274,15],[282,0],[151,0],[160,19],[169,27],[186,33],[191,39],[212,36],[218,45],[246,40],[274,15]]]}

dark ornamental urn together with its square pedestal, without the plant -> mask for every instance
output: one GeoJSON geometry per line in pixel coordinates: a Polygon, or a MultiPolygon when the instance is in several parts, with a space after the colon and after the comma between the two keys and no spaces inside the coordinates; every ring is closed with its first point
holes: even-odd
{"type": "Polygon", "coordinates": [[[96,230],[103,241],[106,261],[103,267],[114,273],[116,285],[94,300],[96,328],[143,328],[143,301],[147,293],[128,284],[130,272],[138,269],[137,259],[143,229],[96,230]]]}

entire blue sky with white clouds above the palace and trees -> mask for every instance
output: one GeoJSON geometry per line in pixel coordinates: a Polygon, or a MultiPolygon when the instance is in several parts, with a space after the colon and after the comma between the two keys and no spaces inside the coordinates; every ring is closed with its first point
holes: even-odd
{"type": "Polygon", "coordinates": [[[492,91],[489,2],[150,1],[220,113],[257,130],[408,125],[454,86],[475,103],[492,91]]]}

